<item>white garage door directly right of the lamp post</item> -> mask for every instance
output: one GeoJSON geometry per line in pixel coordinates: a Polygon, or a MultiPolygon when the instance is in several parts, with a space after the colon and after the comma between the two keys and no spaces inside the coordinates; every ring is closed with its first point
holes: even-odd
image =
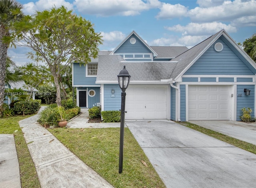
{"type": "Polygon", "coordinates": [[[129,86],[125,119],[166,119],[166,86],[129,86]]]}

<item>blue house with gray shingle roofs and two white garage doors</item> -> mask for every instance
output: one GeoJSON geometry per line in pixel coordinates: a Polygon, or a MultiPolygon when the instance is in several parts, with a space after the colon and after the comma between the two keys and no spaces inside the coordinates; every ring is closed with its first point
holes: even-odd
{"type": "Polygon", "coordinates": [[[131,75],[126,119],[239,121],[244,107],[255,116],[256,64],[225,30],[190,49],[149,46],[132,31],[86,66],[72,64],[77,105],[119,110],[123,66],[131,75]]]}

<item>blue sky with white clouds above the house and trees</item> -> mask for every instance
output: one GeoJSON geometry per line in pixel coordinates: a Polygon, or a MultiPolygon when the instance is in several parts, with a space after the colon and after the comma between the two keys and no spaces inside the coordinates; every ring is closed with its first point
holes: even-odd
{"type": "MultiPolygon", "coordinates": [[[[113,50],[135,30],[150,46],[192,46],[225,29],[243,42],[256,33],[256,0],[17,0],[25,14],[66,6],[94,24],[113,50]]],[[[30,49],[9,48],[17,65],[32,62],[30,49]]]]}

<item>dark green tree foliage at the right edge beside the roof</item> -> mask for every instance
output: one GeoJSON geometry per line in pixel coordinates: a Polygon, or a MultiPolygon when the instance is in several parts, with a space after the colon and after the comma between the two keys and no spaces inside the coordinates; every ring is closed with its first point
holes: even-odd
{"type": "Polygon", "coordinates": [[[256,33],[243,42],[244,51],[256,62],[256,33]]]}

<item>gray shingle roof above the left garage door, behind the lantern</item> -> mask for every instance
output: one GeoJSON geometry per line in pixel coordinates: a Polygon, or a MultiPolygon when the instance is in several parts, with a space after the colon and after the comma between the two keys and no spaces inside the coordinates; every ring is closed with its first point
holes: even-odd
{"type": "Polygon", "coordinates": [[[132,81],[160,81],[169,79],[175,62],[129,62],[120,56],[99,56],[96,82],[117,81],[117,75],[124,65],[132,81]],[[121,62],[122,61],[122,62],[121,62]]]}

